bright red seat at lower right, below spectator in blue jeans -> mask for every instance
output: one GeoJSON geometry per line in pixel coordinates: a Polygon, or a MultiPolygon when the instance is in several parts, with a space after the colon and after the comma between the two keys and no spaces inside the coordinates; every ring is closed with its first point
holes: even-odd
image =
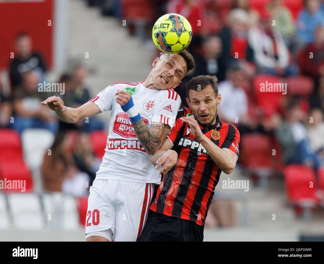
{"type": "Polygon", "coordinates": [[[304,165],[288,165],[284,168],[284,180],[288,201],[298,205],[318,203],[313,169],[304,165]],[[312,188],[310,182],[313,182],[312,188]]]}

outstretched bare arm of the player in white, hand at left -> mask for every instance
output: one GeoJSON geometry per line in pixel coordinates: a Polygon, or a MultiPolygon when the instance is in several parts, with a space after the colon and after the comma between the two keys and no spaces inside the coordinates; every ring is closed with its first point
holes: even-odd
{"type": "Polygon", "coordinates": [[[58,96],[51,96],[42,105],[47,105],[56,115],[66,123],[77,123],[86,117],[94,116],[101,113],[98,105],[87,102],[78,108],[66,107],[63,100],[58,96]]]}

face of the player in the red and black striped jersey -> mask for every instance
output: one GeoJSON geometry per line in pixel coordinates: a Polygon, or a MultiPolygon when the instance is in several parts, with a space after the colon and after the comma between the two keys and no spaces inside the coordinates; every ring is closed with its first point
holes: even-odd
{"type": "Polygon", "coordinates": [[[193,116],[201,125],[214,125],[216,122],[217,106],[221,102],[221,95],[214,93],[212,85],[207,85],[200,91],[190,90],[187,103],[193,116]]]}

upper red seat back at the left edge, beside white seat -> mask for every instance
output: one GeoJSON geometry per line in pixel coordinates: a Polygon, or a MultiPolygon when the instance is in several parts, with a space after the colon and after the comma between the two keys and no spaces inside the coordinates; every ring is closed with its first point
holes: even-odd
{"type": "Polygon", "coordinates": [[[16,130],[0,129],[0,164],[22,160],[20,136],[16,130]]]}

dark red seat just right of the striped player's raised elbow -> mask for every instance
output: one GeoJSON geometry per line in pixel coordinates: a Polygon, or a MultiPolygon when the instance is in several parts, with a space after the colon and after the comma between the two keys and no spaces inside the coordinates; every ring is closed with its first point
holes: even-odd
{"type": "Polygon", "coordinates": [[[270,138],[259,134],[246,134],[240,142],[240,161],[250,171],[272,170],[270,138]]]}

